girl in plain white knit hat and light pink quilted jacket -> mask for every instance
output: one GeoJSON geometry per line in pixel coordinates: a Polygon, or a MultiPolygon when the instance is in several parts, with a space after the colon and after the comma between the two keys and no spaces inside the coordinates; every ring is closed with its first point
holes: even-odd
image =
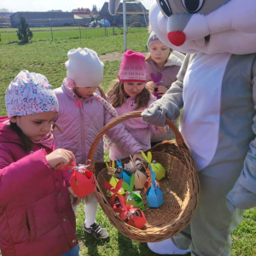
{"type": "MultiPolygon", "coordinates": [[[[105,93],[99,86],[103,78],[103,63],[91,49],[71,49],[67,53],[67,78],[55,90],[60,110],[55,119],[61,131],[55,131],[56,148],[66,148],[73,152],[77,164],[85,164],[91,143],[103,126],[113,119],[114,108],[104,100],[105,93]],[[105,105],[106,104],[106,105],[105,105]]],[[[107,133],[113,143],[127,148],[134,159],[142,159],[143,147],[125,131],[122,124],[107,133]]],[[[98,144],[94,160],[103,161],[103,143],[98,144]]],[[[96,223],[98,202],[94,194],[86,196],[84,204],[85,232],[96,239],[108,238],[107,230],[96,223]]]]}

